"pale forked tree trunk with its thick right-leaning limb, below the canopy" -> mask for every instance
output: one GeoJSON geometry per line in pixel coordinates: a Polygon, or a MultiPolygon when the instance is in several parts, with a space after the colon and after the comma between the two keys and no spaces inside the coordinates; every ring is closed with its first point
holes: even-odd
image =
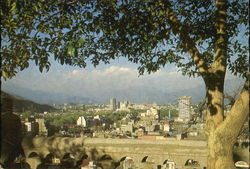
{"type": "MultiPolygon", "coordinates": [[[[218,79],[219,80],[219,79],[218,79]]],[[[209,81],[207,81],[209,82],[209,81]]],[[[235,169],[233,145],[249,115],[249,81],[246,80],[227,117],[223,117],[223,90],[218,82],[207,86],[208,169],[235,169]]],[[[223,89],[223,88],[222,88],[223,89]]]]}

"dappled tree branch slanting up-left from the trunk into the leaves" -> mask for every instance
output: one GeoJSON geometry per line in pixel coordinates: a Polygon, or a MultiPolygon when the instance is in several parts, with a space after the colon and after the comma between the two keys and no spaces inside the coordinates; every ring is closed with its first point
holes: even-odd
{"type": "Polygon", "coordinates": [[[173,33],[175,35],[179,35],[182,43],[184,44],[185,48],[188,50],[189,55],[192,57],[199,73],[204,77],[207,73],[209,67],[206,64],[205,60],[202,57],[202,54],[196,47],[195,42],[191,39],[188,35],[188,26],[182,24],[179,19],[177,18],[176,14],[170,9],[170,5],[167,6],[166,3],[164,4],[165,14],[169,21],[170,26],[172,27],[173,33]]]}

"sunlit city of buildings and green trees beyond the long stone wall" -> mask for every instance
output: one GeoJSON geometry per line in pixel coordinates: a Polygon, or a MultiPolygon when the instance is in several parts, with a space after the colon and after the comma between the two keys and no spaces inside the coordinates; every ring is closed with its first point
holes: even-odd
{"type": "Polygon", "coordinates": [[[131,139],[206,139],[202,105],[190,97],[178,104],[133,104],[110,99],[109,105],[65,103],[53,112],[20,114],[25,135],[131,139]]]}

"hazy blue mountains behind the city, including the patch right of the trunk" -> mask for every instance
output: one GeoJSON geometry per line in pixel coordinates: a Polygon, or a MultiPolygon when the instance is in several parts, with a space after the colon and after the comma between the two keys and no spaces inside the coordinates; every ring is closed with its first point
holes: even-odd
{"type": "MultiPolygon", "coordinates": [[[[235,90],[240,87],[239,81],[235,79],[227,79],[225,83],[225,92],[234,94],[235,90]]],[[[185,85],[185,84],[183,84],[185,85]]],[[[93,95],[84,94],[79,91],[78,95],[68,94],[67,92],[49,92],[42,90],[32,90],[29,88],[20,87],[18,84],[9,83],[4,86],[6,92],[22,96],[40,104],[63,104],[63,103],[83,103],[83,104],[108,104],[109,99],[115,97],[118,101],[131,101],[132,103],[177,103],[180,96],[191,96],[192,103],[199,103],[204,100],[205,87],[198,85],[189,89],[182,90],[162,90],[152,86],[137,86],[134,88],[124,88],[121,90],[105,91],[93,93],[93,95]]]]}

